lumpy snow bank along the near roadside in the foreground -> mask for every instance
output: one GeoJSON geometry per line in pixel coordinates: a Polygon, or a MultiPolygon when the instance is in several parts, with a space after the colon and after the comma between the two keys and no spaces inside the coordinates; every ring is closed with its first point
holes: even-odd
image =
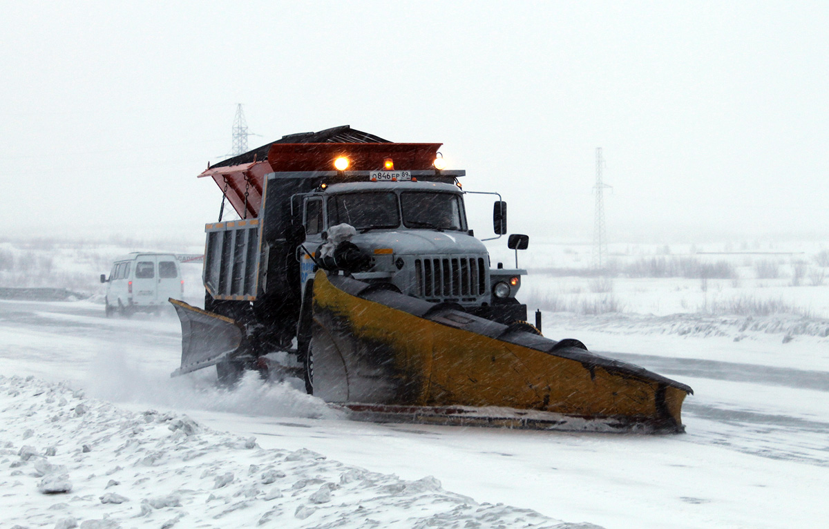
{"type": "Polygon", "coordinates": [[[432,477],[261,449],[32,376],[0,376],[0,424],[4,527],[597,527],[478,504],[432,477]]]}

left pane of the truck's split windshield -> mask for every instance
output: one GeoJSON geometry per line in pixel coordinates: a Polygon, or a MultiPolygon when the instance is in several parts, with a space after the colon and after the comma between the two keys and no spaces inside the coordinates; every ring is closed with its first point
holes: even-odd
{"type": "Polygon", "coordinates": [[[328,226],[345,222],[357,230],[400,226],[397,197],[392,192],[343,193],[328,198],[328,226]]]}

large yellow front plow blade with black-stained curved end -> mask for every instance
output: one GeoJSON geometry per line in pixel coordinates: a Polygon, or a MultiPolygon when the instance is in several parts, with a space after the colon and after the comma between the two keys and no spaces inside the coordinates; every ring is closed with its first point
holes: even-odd
{"type": "Polygon", "coordinates": [[[555,342],[322,270],[308,354],[313,394],[369,419],[404,412],[441,422],[478,410],[472,415],[499,425],[560,417],[681,432],[682,401],[693,393],[575,340],[555,342]]]}

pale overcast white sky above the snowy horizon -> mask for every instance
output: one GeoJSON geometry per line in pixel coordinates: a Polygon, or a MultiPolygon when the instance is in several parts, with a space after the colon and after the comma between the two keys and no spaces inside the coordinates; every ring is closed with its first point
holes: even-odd
{"type": "MultiPolygon", "coordinates": [[[[3,233],[193,231],[230,152],[442,142],[511,231],[829,234],[829,2],[6,2],[3,233]]],[[[196,235],[201,237],[201,235],[196,235]]]]}

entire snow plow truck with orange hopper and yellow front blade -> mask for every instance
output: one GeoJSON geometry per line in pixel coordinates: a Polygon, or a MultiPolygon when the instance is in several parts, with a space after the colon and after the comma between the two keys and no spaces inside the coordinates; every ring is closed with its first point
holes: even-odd
{"type": "MultiPolygon", "coordinates": [[[[440,146],[346,125],[208,166],[199,177],[223,197],[206,225],[205,304],[170,299],[172,376],[216,366],[233,383],[276,356],[356,420],[683,431],[689,386],[526,322],[526,271],[491,267],[467,225],[465,171],[444,167],[440,146]],[[225,201],[239,220],[221,221],[225,201]]],[[[500,196],[492,217],[506,235],[500,196]]]]}

